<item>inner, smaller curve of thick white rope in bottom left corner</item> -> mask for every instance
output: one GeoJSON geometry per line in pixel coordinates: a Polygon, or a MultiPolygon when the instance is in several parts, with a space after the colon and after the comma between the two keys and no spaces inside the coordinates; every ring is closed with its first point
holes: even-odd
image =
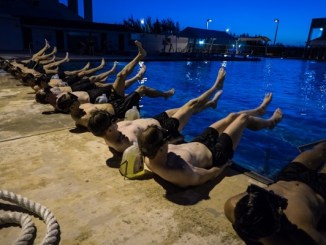
{"type": "Polygon", "coordinates": [[[35,226],[32,218],[28,214],[18,212],[6,212],[0,216],[0,225],[2,224],[19,224],[22,228],[19,237],[15,240],[14,244],[28,244],[33,238],[35,226]]]}

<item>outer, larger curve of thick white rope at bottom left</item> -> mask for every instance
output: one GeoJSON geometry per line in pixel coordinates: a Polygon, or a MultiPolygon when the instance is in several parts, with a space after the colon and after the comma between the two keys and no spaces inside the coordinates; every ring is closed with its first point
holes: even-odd
{"type": "Polygon", "coordinates": [[[47,233],[42,244],[48,245],[56,242],[59,234],[59,224],[48,208],[7,190],[0,190],[0,199],[14,203],[41,217],[47,226],[47,233]]]}

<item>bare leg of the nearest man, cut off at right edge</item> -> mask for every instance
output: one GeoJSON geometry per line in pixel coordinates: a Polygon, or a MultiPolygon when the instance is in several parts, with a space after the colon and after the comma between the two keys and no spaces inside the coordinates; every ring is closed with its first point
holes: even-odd
{"type": "Polygon", "coordinates": [[[293,162],[300,162],[310,169],[318,169],[322,166],[320,172],[326,173],[326,142],[315,145],[311,150],[300,153],[293,162]]]}

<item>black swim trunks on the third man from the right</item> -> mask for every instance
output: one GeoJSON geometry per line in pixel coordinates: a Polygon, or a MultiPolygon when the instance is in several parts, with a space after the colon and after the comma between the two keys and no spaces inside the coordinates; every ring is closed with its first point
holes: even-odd
{"type": "Polygon", "coordinates": [[[169,131],[169,143],[181,144],[184,143],[184,137],[179,132],[179,120],[173,117],[169,117],[166,112],[162,112],[153,117],[156,119],[162,128],[169,131]]]}

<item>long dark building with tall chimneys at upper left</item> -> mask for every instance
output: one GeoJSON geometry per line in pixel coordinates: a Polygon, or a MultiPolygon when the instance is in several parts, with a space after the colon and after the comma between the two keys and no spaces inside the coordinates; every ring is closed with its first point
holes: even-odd
{"type": "Polygon", "coordinates": [[[68,6],[58,0],[0,0],[0,50],[33,53],[47,39],[59,51],[80,54],[125,53],[134,49],[123,25],[93,23],[92,0],[68,6]]]}

